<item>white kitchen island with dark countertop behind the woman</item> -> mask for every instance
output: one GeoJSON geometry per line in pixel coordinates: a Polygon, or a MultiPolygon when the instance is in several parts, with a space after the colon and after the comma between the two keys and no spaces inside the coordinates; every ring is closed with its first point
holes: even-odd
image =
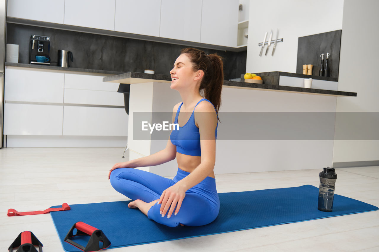
{"type": "MultiPolygon", "coordinates": [[[[171,114],[174,105],[182,101],[179,92],[170,89],[171,77],[169,75],[128,72],[107,76],[103,78],[103,81],[130,84],[128,120],[130,159],[148,156],[164,149],[168,135],[164,139],[160,137],[149,139],[140,136],[138,139],[133,139],[133,133],[135,133],[133,126],[135,128],[141,127],[139,124],[133,125],[133,113],[136,115],[150,114],[151,120],[149,121],[152,121],[152,117],[157,115],[155,113],[171,114]]],[[[312,135],[312,132],[310,132],[310,137],[304,139],[301,137],[288,139],[281,139],[280,137],[259,138],[257,136],[243,138],[247,133],[262,131],[262,128],[255,126],[254,121],[239,128],[238,121],[235,121],[235,128],[230,129],[230,122],[233,120],[229,116],[237,112],[244,112],[244,114],[238,115],[242,115],[243,118],[251,117],[254,119],[257,118],[258,114],[249,113],[324,112],[329,113],[327,115],[332,115],[332,117],[324,119],[326,124],[330,126],[328,133],[330,134],[333,131],[332,134],[334,134],[337,96],[356,95],[354,92],[224,81],[222,105],[219,110],[221,122],[218,126],[216,143],[215,173],[277,171],[278,169],[302,170],[331,166],[333,135],[322,138],[322,140],[312,135]],[[227,112],[232,113],[228,114],[227,112]],[[317,158],[315,159],[315,157],[317,158]]],[[[280,124],[269,124],[265,130],[276,133],[281,129],[280,124]]],[[[141,129],[137,130],[140,131],[141,129]]],[[[305,134],[307,134],[306,131],[305,134]]],[[[163,165],[142,169],[161,176],[173,176],[177,170],[177,164],[175,160],[172,160],[163,165]]]]}

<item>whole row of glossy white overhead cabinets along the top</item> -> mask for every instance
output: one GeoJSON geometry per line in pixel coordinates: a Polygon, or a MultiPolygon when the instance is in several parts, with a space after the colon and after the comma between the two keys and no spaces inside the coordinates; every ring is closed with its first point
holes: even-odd
{"type": "Polygon", "coordinates": [[[238,5],[238,0],[11,0],[7,16],[80,26],[86,32],[95,28],[159,42],[237,48],[238,5]]]}

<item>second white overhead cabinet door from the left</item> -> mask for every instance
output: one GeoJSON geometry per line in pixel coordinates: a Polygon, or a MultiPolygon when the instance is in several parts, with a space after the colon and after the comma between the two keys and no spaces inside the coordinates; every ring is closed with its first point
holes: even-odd
{"type": "Polygon", "coordinates": [[[116,0],[65,0],[64,24],[114,30],[116,0]]]}

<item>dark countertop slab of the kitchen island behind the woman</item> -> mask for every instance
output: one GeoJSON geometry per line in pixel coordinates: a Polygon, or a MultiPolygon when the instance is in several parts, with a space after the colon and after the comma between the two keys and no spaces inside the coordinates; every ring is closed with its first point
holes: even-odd
{"type": "MultiPolygon", "coordinates": [[[[298,75],[298,74],[295,73],[294,75],[298,75]]],[[[103,81],[124,83],[124,84],[137,84],[137,83],[144,83],[144,82],[171,83],[171,77],[169,75],[156,75],[156,74],[149,74],[149,73],[128,72],[128,73],[122,73],[120,75],[104,77],[103,81]]],[[[314,94],[314,95],[357,96],[357,93],[354,93],[354,92],[324,90],[324,89],[307,89],[304,87],[288,87],[288,86],[279,86],[279,85],[271,85],[271,84],[255,84],[255,83],[240,82],[240,81],[224,81],[224,87],[233,87],[233,88],[240,88],[240,89],[257,89],[257,90],[279,91],[279,92],[290,92],[290,93],[307,93],[307,94],[314,94]]]]}

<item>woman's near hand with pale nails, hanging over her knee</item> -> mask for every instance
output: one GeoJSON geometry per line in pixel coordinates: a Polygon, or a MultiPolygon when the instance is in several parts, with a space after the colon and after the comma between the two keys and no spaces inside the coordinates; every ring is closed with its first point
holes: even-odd
{"type": "Polygon", "coordinates": [[[166,215],[167,211],[170,208],[167,214],[167,218],[170,218],[172,212],[174,212],[175,206],[176,209],[174,214],[177,215],[185,196],[186,190],[179,184],[175,184],[164,190],[158,201],[158,204],[161,204],[160,214],[162,215],[162,217],[166,215]]]}

